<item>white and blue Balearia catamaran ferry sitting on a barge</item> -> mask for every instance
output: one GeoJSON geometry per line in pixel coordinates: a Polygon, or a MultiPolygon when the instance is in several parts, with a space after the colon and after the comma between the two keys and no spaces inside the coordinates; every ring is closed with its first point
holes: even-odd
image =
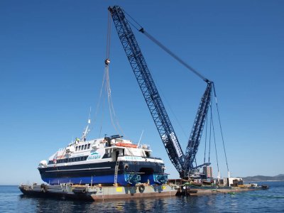
{"type": "Polygon", "coordinates": [[[119,135],[87,140],[88,132],[89,124],[82,138],[59,149],[48,161],[40,161],[38,170],[44,182],[124,186],[167,182],[163,160],[154,158],[149,146],[133,144],[119,135]]]}

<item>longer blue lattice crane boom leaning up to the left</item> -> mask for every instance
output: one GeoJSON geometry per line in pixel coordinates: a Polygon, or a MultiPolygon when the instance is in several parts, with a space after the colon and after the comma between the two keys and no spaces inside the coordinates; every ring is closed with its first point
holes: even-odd
{"type": "Polygon", "coordinates": [[[139,84],[143,97],[146,100],[148,109],[151,112],[155,126],[158,129],[160,138],[163,141],[165,150],[168,156],[178,170],[180,175],[184,173],[184,154],[165,107],[163,105],[162,99],[160,99],[160,94],[158,89],[155,87],[151,73],[148,70],[145,59],[141,53],[141,49],[138,46],[135,36],[129,21],[127,21],[124,11],[119,6],[109,7],[111,17],[116,26],[116,31],[121,40],[121,44],[124,47],[126,56],[130,62],[136,80],[139,84]]]}

